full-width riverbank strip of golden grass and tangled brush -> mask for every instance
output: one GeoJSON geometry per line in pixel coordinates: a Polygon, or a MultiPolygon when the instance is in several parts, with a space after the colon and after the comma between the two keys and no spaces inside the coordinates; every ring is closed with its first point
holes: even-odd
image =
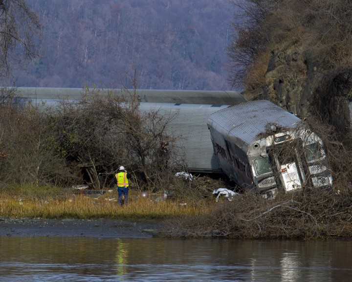
{"type": "MultiPolygon", "coordinates": [[[[199,188],[198,188],[199,189],[199,188]]],[[[116,189],[84,194],[72,189],[13,187],[0,191],[0,216],[11,218],[166,219],[170,237],[327,239],[352,237],[352,190],[302,188],[267,200],[243,193],[221,197],[164,198],[130,189],[119,206],[116,189]],[[185,200],[187,199],[187,200],[185,200]]],[[[195,190],[192,190],[195,194],[195,190]]],[[[193,195],[192,194],[192,195],[193,195]]]]}

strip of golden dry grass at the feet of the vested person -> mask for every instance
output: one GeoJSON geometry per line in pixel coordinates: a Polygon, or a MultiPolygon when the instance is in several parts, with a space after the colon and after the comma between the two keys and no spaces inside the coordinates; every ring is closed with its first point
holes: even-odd
{"type": "Polygon", "coordinates": [[[118,204],[115,191],[94,196],[67,193],[61,197],[22,198],[3,193],[0,197],[0,216],[18,218],[162,219],[199,215],[207,210],[204,203],[165,200],[157,195],[142,197],[136,191],[130,191],[127,206],[118,204]]]}

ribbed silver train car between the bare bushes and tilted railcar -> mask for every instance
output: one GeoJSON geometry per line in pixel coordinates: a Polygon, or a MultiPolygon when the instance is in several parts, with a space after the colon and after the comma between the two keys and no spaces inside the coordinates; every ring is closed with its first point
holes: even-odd
{"type": "MultiPolygon", "coordinates": [[[[222,173],[214,154],[207,119],[227,105],[199,105],[172,103],[140,103],[141,115],[153,113],[155,119],[166,122],[164,134],[170,142],[173,158],[169,161],[175,167],[190,172],[222,173]]],[[[145,118],[147,120],[147,118],[145,118]]]]}

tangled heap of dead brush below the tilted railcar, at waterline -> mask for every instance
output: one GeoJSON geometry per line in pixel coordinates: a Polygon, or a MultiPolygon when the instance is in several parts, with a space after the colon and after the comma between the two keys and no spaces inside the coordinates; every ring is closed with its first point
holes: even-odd
{"type": "Polygon", "coordinates": [[[304,188],[267,201],[245,193],[223,200],[214,210],[168,222],[172,237],[238,239],[316,239],[351,237],[352,194],[349,189],[304,188]]]}

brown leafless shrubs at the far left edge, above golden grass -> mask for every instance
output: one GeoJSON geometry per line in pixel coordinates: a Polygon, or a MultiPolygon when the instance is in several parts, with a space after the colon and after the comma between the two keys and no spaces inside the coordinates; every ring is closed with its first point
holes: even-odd
{"type": "Polygon", "coordinates": [[[52,126],[32,105],[0,105],[0,181],[66,185],[74,176],[55,147],[52,126]]]}

